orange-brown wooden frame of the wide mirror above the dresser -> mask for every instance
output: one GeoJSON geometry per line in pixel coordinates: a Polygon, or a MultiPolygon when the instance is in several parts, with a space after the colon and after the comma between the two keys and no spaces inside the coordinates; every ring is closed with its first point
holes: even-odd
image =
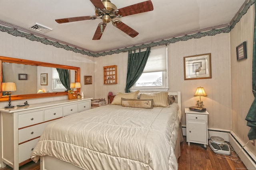
{"type": "MultiPolygon", "coordinates": [[[[80,82],[80,67],[65,66],[65,65],[60,65],[60,64],[44,63],[44,62],[40,62],[40,61],[31,61],[31,60],[25,60],[25,59],[16,59],[16,58],[0,56],[0,102],[9,100],[8,96],[2,95],[3,94],[2,93],[2,80],[3,80],[2,63],[3,62],[74,70],[75,71],[75,82],[80,82]]],[[[78,90],[80,90],[80,88],[78,90]]],[[[18,94],[18,95],[12,95],[12,100],[46,98],[46,97],[55,97],[55,96],[64,96],[64,95],[68,95],[68,92],[51,92],[51,93],[40,93],[40,94],[18,94]]]]}

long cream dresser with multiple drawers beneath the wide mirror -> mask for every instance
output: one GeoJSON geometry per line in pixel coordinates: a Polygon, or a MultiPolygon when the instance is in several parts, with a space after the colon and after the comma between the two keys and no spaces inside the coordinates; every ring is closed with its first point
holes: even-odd
{"type": "Polygon", "coordinates": [[[48,123],[91,108],[92,98],[60,100],[0,109],[2,167],[14,170],[30,162],[30,154],[48,123]]]}

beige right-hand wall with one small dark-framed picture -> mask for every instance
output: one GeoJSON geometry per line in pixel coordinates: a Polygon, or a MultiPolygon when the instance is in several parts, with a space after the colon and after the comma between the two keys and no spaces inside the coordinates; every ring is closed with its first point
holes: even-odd
{"type": "MultiPolygon", "coordinates": [[[[231,92],[232,92],[232,130],[246,143],[248,131],[245,117],[252,104],[252,49],[254,33],[254,5],[230,32],[231,51],[231,92]],[[236,46],[246,41],[247,59],[236,61],[236,46]]],[[[254,154],[256,148],[248,145],[254,154]]]]}

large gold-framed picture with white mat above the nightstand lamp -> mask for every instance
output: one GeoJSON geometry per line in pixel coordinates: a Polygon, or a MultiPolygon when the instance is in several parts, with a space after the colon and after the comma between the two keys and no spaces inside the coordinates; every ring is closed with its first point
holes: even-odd
{"type": "Polygon", "coordinates": [[[212,78],[211,53],[184,57],[184,80],[212,78]]]}

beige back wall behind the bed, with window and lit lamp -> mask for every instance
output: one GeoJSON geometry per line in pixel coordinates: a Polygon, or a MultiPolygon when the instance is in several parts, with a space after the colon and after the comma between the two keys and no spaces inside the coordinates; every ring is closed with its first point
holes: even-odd
{"type": "MultiPolygon", "coordinates": [[[[162,48],[155,47],[155,48],[162,48]]],[[[230,85],[230,34],[222,33],[169,44],[168,47],[168,83],[169,92],[181,91],[182,124],[186,125],[184,108],[195,106],[199,97],[194,92],[199,86],[204,87],[208,96],[202,97],[209,111],[210,128],[231,129],[231,85],[230,85]],[[212,78],[184,80],[183,57],[211,53],[212,78]]],[[[154,49],[154,48],[152,48],[154,49]]],[[[107,97],[111,90],[124,92],[126,85],[128,53],[96,58],[96,98],[107,97]],[[118,66],[118,84],[103,85],[103,66],[118,66]]]]}

